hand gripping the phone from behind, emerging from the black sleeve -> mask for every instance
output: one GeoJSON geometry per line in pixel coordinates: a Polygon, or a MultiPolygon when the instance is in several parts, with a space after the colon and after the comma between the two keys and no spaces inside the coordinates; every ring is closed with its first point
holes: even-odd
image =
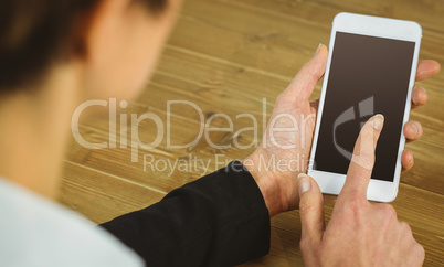
{"type": "MultiPolygon", "coordinates": [[[[311,92],[315,88],[318,79],[324,75],[327,64],[328,49],[326,45],[319,45],[315,56],[307,62],[304,67],[297,73],[290,85],[281,93],[276,100],[271,121],[281,114],[292,114],[295,118],[300,118],[304,114],[311,114],[314,120],[316,119],[318,100],[309,102],[311,92]]],[[[416,81],[422,81],[427,77],[434,76],[440,72],[440,64],[436,61],[425,60],[420,61],[417,65],[416,81]]],[[[417,108],[424,105],[427,100],[424,88],[415,87],[412,93],[412,108],[417,108]]],[[[277,120],[275,127],[281,127],[281,120],[277,120]]],[[[411,131],[412,124],[421,127],[420,122],[409,121],[404,126],[404,135],[408,140],[416,140],[421,137],[421,132],[411,131]]],[[[298,209],[299,193],[297,190],[296,177],[300,172],[306,172],[307,163],[310,152],[313,135],[315,131],[314,124],[311,128],[306,128],[304,138],[300,131],[286,132],[282,136],[279,143],[294,143],[294,140],[304,140],[305,149],[300,142],[295,148],[279,149],[272,146],[271,135],[268,134],[268,124],[266,135],[258,148],[249,156],[243,162],[245,168],[255,179],[260,190],[264,196],[265,204],[268,207],[271,216],[286,212],[289,210],[298,209]],[[273,172],[269,168],[261,169],[261,159],[275,157],[275,162],[279,161],[294,161],[294,159],[305,160],[298,167],[292,170],[283,170],[273,172]]],[[[413,156],[410,151],[404,151],[401,157],[403,171],[409,170],[413,165],[413,156]]]]}

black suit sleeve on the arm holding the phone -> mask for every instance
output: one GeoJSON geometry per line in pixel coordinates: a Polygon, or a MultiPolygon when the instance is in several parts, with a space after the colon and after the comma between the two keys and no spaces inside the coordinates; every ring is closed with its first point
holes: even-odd
{"type": "Polygon", "coordinates": [[[240,161],[102,225],[147,266],[232,266],[269,250],[269,215],[240,161]]]}

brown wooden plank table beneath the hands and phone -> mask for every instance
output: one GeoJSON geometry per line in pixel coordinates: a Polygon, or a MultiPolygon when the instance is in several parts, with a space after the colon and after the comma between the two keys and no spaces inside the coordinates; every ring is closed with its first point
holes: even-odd
{"type": "MultiPolygon", "coordinates": [[[[167,100],[189,100],[202,109],[205,118],[218,113],[230,116],[234,131],[252,126],[251,119],[235,119],[236,115],[254,115],[261,138],[263,99],[269,116],[276,96],[313,56],[318,43],[328,44],[332,18],[341,11],[417,21],[424,31],[421,58],[444,64],[442,0],[187,0],[151,83],[141,98],[124,111],[151,113],[166,124],[167,100]]],[[[430,100],[425,107],[412,111],[411,117],[423,124],[424,136],[406,145],[414,153],[415,165],[402,174],[393,205],[399,218],[411,225],[425,247],[425,266],[444,266],[444,72],[417,84],[427,89],[430,100]]],[[[320,83],[313,98],[319,96],[319,89],[320,83]]],[[[199,114],[191,106],[173,105],[170,119],[172,145],[192,141],[201,127],[199,114]]],[[[211,126],[228,124],[218,118],[211,126]]],[[[82,136],[91,142],[107,141],[108,132],[104,119],[93,119],[81,127],[82,136]]],[[[120,127],[117,132],[115,149],[89,150],[73,140],[66,157],[60,201],[96,223],[148,206],[175,188],[200,178],[204,171],[199,167],[169,175],[169,169],[154,172],[148,165],[144,170],[144,154],[154,156],[158,169],[162,169],[162,160],[190,161],[191,156],[207,161],[221,154],[220,161],[224,161],[245,158],[254,150],[215,150],[205,141],[188,150],[168,149],[165,132],[160,146],[139,150],[138,162],[131,162],[130,147],[121,148],[119,142],[120,127]]],[[[154,141],[157,134],[152,121],[140,124],[142,141],[154,141]]],[[[247,145],[254,141],[254,135],[213,132],[210,139],[216,145],[234,139],[247,145]]],[[[127,140],[129,145],[129,129],[127,140]]],[[[216,168],[212,163],[210,171],[216,168]]],[[[335,200],[326,196],[327,220],[335,200]]],[[[300,266],[299,238],[298,211],[278,215],[272,220],[269,255],[246,265],[300,266]]]]}

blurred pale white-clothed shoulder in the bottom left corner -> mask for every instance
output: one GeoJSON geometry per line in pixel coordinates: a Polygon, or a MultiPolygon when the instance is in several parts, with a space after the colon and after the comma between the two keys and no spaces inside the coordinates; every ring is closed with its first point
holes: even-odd
{"type": "Polygon", "coordinates": [[[0,266],[142,266],[86,218],[0,178],[0,266]]]}

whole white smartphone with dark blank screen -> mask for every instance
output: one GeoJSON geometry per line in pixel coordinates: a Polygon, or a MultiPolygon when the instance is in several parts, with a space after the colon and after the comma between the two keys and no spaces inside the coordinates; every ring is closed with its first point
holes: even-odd
{"type": "Polygon", "coordinates": [[[335,17],[308,165],[323,193],[339,194],[361,127],[382,114],[367,199],[397,197],[421,38],[420,24],[412,21],[335,17]]]}

